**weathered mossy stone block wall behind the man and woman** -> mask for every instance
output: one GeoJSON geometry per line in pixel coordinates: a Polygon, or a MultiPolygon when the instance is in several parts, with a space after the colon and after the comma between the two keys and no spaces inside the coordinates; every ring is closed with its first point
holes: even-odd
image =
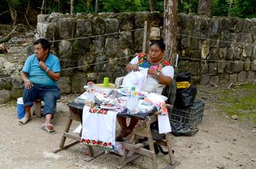
{"type": "MultiPolygon", "coordinates": [[[[52,51],[62,67],[61,92],[82,92],[87,81],[102,83],[109,77],[113,82],[126,74],[125,65],[142,51],[145,20],[151,23],[150,40],[161,38],[163,14],[157,12],[38,15],[35,38],[54,41],[52,51]]],[[[255,80],[255,19],[179,13],[178,33],[179,72],[191,72],[193,83],[255,80]]],[[[13,79],[8,88],[0,85],[0,93],[20,93],[20,84],[13,79]]]]}

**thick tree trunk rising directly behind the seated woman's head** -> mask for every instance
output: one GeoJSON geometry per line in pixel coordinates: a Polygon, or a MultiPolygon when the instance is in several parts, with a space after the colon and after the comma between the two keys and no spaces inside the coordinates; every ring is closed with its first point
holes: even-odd
{"type": "Polygon", "coordinates": [[[177,50],[177,0],[164,1],[163,33],[166,43],[164,58],[173,61],[177,50]]]}

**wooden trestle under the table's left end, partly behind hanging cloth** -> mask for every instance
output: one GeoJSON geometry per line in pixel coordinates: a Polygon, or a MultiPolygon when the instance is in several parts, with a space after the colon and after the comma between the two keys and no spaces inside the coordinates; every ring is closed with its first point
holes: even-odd
{"type": "MultiPolygon", "coordinates": [[[[81,129],[79,135],[77,135],[77,134],[70,134],[69,131],[70,131],[70,127],[71,127],[71,124],[72,124],[73,120],[82,122],[83,108],[72,106],[72,104],[68,104],[68,106],[70,108],[70,111],[69,111],[70,112],[70,116],[69,116],[69,118],[67,120],[67,124],[66,124],[65,130],[63,132],[63,136],[61,138],[61,143],[59,145],[59,148],[52,151],[54,153],[59,152],[61,150],[65,150],[68,147],[71,147],[72,145],[76,145],[77,143],[80,143],[80,140],[81,140],[82,129],[81,129]],[[66,138],[71,138],[71,139],[73,139],[75,141],[70,143],[70,144],[65,145],[66,138]]],[[[86,158],[84,159],[85,161],[90,161],[90,160],[94,159],[95,157],[97,157],[100,154],[105,152],[104,150],[97,150],[97,151],[94,152],[92,146],[90,146],[90,145],[86,145],[86,146],[88,148],[89,155],[86,156],[86,158]]]]}

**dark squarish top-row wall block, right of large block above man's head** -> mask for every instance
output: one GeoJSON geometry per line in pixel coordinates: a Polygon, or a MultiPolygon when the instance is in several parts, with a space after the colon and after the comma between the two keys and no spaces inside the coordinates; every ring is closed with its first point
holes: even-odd
{"type": "Polygon", "coordinates": [[[86,37],[93,35],[92,24],[86,19],[77,20],[77,37],[86,37]]]}

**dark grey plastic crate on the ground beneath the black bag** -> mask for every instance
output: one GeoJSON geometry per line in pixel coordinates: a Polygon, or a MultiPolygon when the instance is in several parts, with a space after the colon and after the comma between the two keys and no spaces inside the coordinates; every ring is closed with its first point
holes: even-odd
{"type": "Polygon", "coordinates": [[[179,108],[174,106],[170,115],[171,122],[184,122],[191,127],[195,127],[202,122],[205,103],[202,100],[195,100],[192,106],[179,108]]]}

